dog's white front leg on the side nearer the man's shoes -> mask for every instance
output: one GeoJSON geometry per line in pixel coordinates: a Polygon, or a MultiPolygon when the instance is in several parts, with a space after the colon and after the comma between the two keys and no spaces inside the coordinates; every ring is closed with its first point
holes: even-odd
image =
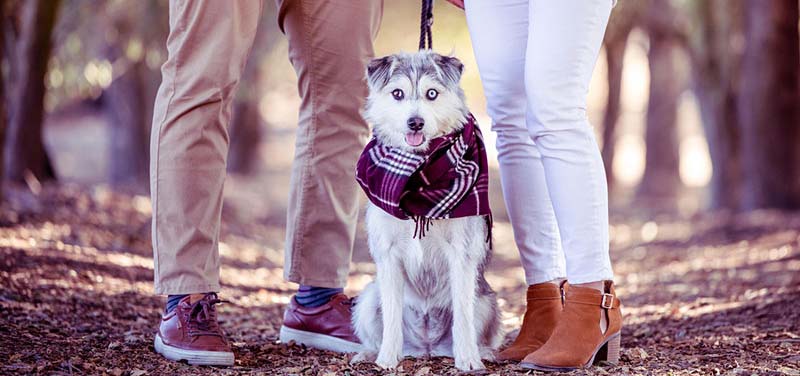
{"type": "MultiPolygon", "coordinates": [[[[391,255],[390,251],[390,255],[391,255]]],[[[383,318],[383,341],[375,364],[394,368],[403,356],[403,289],[405,277],[400,260],[386,257],[376,261],[378,295],[383,318]]]]}

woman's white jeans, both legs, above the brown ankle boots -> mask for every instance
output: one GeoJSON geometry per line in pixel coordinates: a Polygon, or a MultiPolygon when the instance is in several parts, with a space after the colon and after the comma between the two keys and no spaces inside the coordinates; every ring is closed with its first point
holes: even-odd
{"type": "Polygon", "coordinates": [[[467,0],[528,284],[613,279],[608,188],[586,96],[612,0],[467,0]]]}

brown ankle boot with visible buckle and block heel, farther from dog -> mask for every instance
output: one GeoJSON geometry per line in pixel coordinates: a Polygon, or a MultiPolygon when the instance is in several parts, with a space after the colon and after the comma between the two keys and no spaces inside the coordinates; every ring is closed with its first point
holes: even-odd
{"type": "Polygon", "coordinates": [[[553,335],[544,346],[522,360],[522,367],[563,372],[599,361],[616,364],[622,312],[613,282],[605,281],[605,291],[571,285],[553,335]],[[601,315],[608,318],[605,333],[600,330],[601,315]]]}

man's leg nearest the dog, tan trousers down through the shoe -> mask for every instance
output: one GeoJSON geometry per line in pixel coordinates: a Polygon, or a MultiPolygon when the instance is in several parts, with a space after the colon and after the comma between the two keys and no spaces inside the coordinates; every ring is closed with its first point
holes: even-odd
{"type": "MultiPolygon", "coordinates": [[[[349,308],[342,311],[342,327],[329,333],[298,323],[313,322],[310,312],[339,301],[340,289],[347,282],[359,209],[355,164],[369,136],[360,115],[367,95],[365,69],[374,55],[372,41],[383,1],[277,3],[278,22],[289,39],[289,58],[302,98],[284,276],[303,286],[287,309],[282,339],[288,338],[287,331],[297,329],[352,342],[349,308]]],[[[317,347],[330,344],[305,342],[317,347]]],[[[343,348],[338,344],[333,349],[343,348]]]]}

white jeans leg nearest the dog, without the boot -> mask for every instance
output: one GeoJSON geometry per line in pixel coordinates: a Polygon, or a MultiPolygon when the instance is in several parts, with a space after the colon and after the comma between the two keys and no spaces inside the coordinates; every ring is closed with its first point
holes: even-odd
{"type": "Polygon", "coordinates": [[[525,125],[523,81],[528,0],[467,0],[467,23],[492,129],[500,178],[529,285],[566,276],[544,167],[525,125]]]}

